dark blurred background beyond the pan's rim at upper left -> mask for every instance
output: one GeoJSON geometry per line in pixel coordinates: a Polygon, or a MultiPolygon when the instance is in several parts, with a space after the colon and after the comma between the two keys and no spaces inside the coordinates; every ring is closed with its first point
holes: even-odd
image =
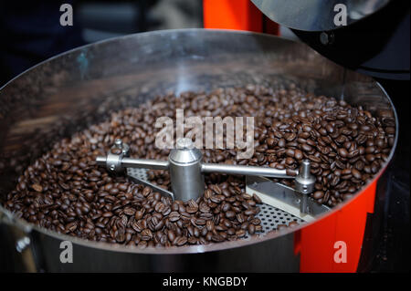
{"type": "Polygon", "coordinates": [[[132,33],[203,26],[202,0],[1,1],[0,87],[68,49],[132,33]],[[73,26],[60,26],[60,5],[73,7],[73,26]]]}

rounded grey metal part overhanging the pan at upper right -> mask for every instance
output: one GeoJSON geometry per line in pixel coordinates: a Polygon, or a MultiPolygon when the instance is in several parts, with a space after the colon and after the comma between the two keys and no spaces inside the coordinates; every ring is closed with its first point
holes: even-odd
{"type": "MultiPolygon", "coordinates": [[[[334,17],[345,5],[347,25],[383,8],[390,0],[251,0],[272,21],[289,28],[321,31],[338,28],[334,17]],[[335,10],[334,10],[334,7],[335,10]]],[[[337,16],[338,17],[338,16],[337,16]]]]}

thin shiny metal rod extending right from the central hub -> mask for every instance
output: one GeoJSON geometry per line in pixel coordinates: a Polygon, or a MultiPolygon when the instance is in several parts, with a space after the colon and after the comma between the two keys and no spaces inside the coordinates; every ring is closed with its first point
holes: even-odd
{"type": "Polygon", "coordinates": [[[205,173],[218,172],[231,175],[263,176],[270,178],[295,178],[287,175],[286,170],[278,170],[268,167],[228,165],[221,163],[204,163],[201,166],[201,171],[205,173]]]}

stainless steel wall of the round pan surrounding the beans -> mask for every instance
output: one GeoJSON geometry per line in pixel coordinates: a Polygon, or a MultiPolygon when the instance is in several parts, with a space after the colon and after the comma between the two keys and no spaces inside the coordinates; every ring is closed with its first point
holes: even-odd
{"type": "MultiPolygon", "coordinates": [[[[392,112],[396,122],[390,99],[372,78],[352,71],[344,78],[341,67],[302,44],[275,36],[208,29],[124,36],[54,57],[1,88],[0,197],[16,186],[22,169],[62,136],[107,119],[112,110],[138,106],[170,90],[178,94],[245,84],[272,88],[294,84],[336,98],[342,96],[343,88],[347,102],[374,114],[392,112]]],[[[17,218],[3,206],[0,213],[14,217],[12,224],[0,223],[2,238],[13,237],[10,232],[16,223],[33,229],[36,261],[47,271],[298,271],[294,232],[315,223],[249,240],[137,249],[57,234],[17,218]],[[73,242],[73,264],[61,264],[58,259],[63,240],[73,242]]],[[[15,246],[13,241],[10,250],[15,246]]]]}

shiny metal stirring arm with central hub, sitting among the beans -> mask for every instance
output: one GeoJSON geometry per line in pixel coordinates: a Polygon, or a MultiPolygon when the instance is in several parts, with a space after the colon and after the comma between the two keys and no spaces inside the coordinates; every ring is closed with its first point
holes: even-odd
{"type": "MultiPolygon", "coordinates": [[[[205,173],[225,173],[245,176],[259,176],[279,179],[295,179],[296,191],[303,194],[300,203],[301,213],[306,212],[308,194],[313,191],[315,178],[310,172],[310,161],[302,161],[297,176],[287,174],[287,170],[278,170],[267,167],[228,165],[216,163],[203,163],[201,151],[195,149],[192,140],[181,139],[177,141],[177,149],[170,152],[168,161],[154,161],[132,159],[128,157],[129,146],[116,140],[114,146],[106,157],[97,157],[96,162],[105,166],[110,171],[123,171],[124,169],[153,169],[167,170],[170,172],[172,192],[167,192],[153,183],[131,176],[134,180],[152,186],[159,192],[170,195],[173,199],[188,201],[196,200],[205,189],[205,173]]],[[[129,173],[129,172],[128,172],[129,173]]]]}

